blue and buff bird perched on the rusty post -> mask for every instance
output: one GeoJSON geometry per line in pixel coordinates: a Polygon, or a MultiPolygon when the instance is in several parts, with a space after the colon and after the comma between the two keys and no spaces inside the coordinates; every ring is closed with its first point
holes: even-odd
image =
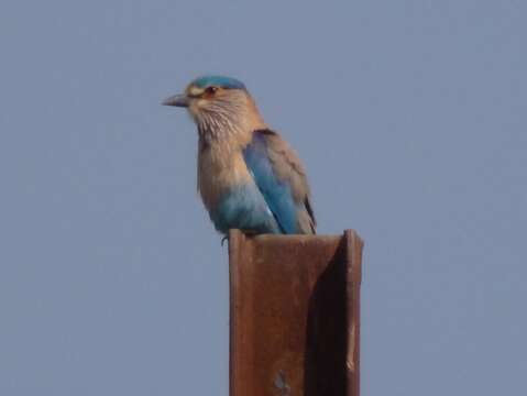
{"type": "Polygon", "coordinates": [[[198,77],[162,105],[186,108],[197,127],[198,190],[220,233],[316,233],[305,168],[242,81],[198,77]]]}

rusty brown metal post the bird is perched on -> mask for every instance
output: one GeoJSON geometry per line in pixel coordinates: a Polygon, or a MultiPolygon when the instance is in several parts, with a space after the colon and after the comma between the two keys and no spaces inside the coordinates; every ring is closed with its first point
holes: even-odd
{"type": "Polygon", "coordinates": [[[230,232],[230,396],[359,396],[362,245],[230,232]]]}

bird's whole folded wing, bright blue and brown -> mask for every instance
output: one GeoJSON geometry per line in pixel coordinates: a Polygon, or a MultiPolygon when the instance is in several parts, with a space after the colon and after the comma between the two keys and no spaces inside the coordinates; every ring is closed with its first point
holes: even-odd
{"type": "Polygon", "coordinates": [[[288,144],[271,130],[254,131],[243,156],[281,230],[315,233],[306,173],[288,144]]]}

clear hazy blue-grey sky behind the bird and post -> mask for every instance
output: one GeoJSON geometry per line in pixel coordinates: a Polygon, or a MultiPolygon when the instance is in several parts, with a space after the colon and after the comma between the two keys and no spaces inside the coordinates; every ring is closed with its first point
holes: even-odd
{"type": "Polygon", "coordinates": [[[527,377],[527,3],[0,4],[0,394],[228,395],[227,250],[196,133],[242,79],[366,241],[363,395],[527,377]]]}

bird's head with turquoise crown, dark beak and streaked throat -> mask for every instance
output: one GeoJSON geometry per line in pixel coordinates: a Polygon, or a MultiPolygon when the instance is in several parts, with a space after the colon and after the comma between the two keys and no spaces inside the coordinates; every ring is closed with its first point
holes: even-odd
{"type": "Polygon", "coordinates": [[[231,77],[199,77],[184,94],[166,98],[163,105],[187,108],[201,131],[263,122],[245,85],[231,77]]]}

